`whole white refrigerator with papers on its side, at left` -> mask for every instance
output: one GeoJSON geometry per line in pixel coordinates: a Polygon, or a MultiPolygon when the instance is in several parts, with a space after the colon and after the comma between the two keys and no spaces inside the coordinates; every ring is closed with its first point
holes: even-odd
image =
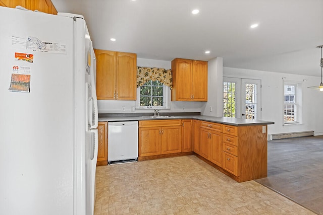
{"type": "Polygon", "coordinates": [[[0,7],[0,214],[93,214],[95,65],[82,16],[0,7]]]}

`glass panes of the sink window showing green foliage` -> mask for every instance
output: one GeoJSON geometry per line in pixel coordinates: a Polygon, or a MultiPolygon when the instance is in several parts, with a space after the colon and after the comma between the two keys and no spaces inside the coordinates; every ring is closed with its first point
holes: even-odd
{"type": "Polygon", "coordinates": [[[163,83],[150,80],[141,86],[140,106],[163,106],[163,83]]]}

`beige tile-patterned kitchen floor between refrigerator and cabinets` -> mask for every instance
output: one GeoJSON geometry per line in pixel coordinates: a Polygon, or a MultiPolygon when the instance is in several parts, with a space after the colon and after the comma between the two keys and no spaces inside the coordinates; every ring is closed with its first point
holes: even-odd
{"type": "Polygon", "coordinates": [[[94,214],[314,214],[193,155],[100,166],[96,180],[94,214]]]}

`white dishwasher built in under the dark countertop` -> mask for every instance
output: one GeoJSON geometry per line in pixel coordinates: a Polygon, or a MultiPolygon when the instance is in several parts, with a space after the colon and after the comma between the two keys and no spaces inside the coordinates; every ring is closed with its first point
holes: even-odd
{"type": "Polygon", "coordinates": [[[138,161],[138,121],[108,122],[107,163],[138,161]]]}

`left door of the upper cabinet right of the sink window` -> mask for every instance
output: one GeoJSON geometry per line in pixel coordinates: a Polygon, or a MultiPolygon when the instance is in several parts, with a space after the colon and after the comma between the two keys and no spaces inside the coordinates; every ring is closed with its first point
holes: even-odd
{"type": "Polygon", "coordinates": [[[192,60],[172,61],[172,101],[192,101],[192,60]]]}

